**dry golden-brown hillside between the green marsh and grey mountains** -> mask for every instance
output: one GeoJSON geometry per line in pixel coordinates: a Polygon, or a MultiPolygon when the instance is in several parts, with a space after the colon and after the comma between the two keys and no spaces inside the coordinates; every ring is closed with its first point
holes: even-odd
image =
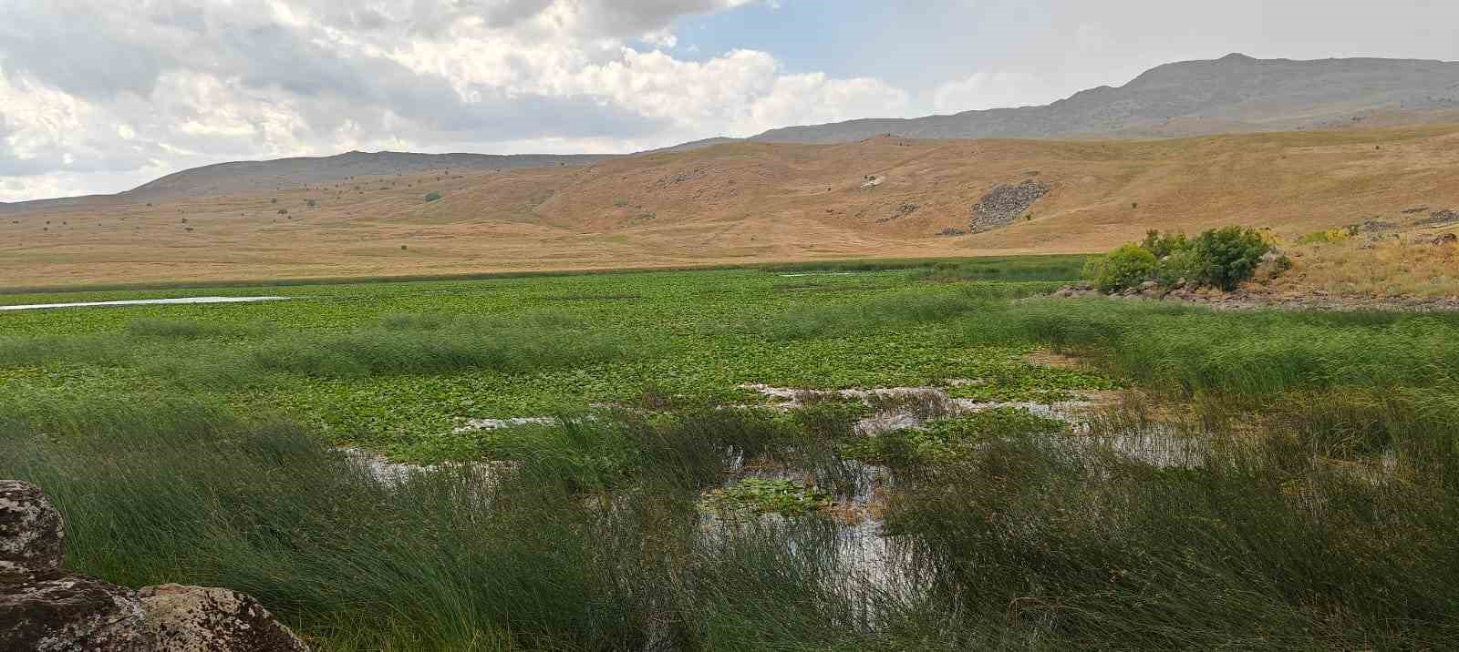
{"type": "Polygon", "coordinates": [[[0,287],[1094,252],[1148,228],[1296,236],[1417,207],[1459,208],[1459,127],[732,143],[589,167],[12,211],[0,214],[0,287]],[[868,175],[881,183],[864,189],[868,175]],[[1015,223],[938,236],[1024,179],[1050,191],[1015,223]]]}

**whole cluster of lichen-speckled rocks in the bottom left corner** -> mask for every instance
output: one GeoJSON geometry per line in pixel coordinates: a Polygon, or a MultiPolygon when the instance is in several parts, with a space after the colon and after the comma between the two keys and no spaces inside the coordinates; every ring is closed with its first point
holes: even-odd
{"type": "Polygon", "coordinates": [[[223,588],[131,591],[67,572],[66,528],[39,488],[0,480],[0,649],[306,652],[257,600],[223,588]]]}

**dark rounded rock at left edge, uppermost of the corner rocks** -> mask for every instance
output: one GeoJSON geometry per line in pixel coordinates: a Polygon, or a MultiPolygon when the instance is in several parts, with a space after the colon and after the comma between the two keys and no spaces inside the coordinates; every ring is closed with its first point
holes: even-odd
{"type": "Polygon", "coordinates": [[[58,572],[64,538],[61,512],[41,488],[0,480],[0,582],[58,572]]]}

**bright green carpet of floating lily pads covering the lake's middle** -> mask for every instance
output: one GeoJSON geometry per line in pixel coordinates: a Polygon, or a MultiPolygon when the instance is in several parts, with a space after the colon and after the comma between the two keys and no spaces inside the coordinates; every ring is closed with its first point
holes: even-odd
{"type": "Polygon", "coordinates": [[[978,389],[989,400],[1099,386],[1091,374],[1024,365],[1030,345],[969,336],[996,325],[1010,298],[1050,284],[926,284],[916,265],[871,268],[880,271],[795,279],[846,293],[785,293],[781,275],[741,269],[209,288],[292,298],[7,313],[0,390],[206,396],[283,410],[334,442],[425,458],[465,450],[446,444],[460,419],[643,406],[645,387],[657,403],[680,406],[765,402],[740,389],[750,383],[837,390],[989,378],[978,389]]]}

